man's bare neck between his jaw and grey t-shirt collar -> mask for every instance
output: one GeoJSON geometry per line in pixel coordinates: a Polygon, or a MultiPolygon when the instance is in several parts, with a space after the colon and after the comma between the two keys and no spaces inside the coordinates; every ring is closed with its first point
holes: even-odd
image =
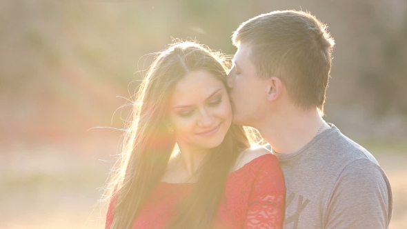
{"type": "Polygon", "coordinates": [[[297,109],[273,115],[258,130],[275,152],[289,154],[301,150],[319,132],[328,128],[317,109],[297,109]]]}

